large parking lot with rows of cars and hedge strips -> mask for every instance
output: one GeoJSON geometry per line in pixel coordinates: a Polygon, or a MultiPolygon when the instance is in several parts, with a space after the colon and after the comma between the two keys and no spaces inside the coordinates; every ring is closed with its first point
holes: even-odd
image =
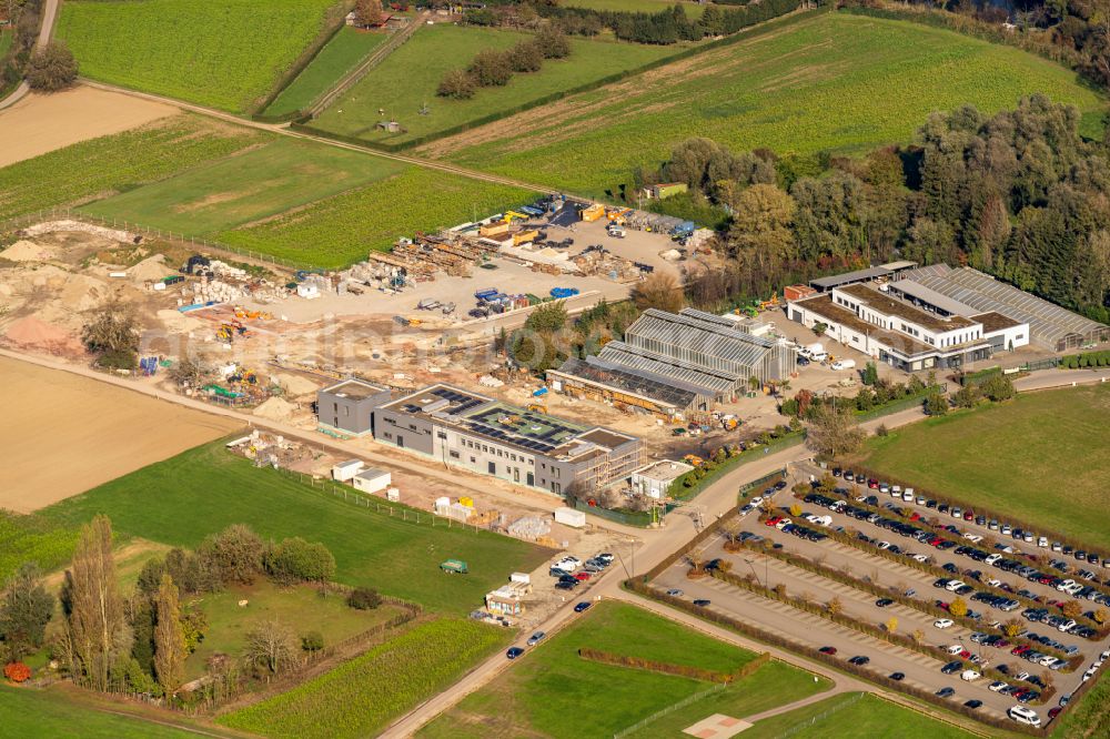
{"type": "MultiPolygon", "coordinates": [[[[799,466],[788,480],[789,486],[809,483],[810,476],[817,478],[824,472],[816,467],[799,466]]],[[[837,485],[844,484],[837,480],[837,485]]],[[[841,487],[846,493],[849,489],[841,487]]],[[[1000,548],[997,554],[1001,556],[997,559],[991,558],[991,564],[987,564],[983,560],[987,555],[979,548],[987,539],[983,538],[977,547],[970,539],[963,538],[965,534],[980,536],[971,530],[975,526],[973,518],[972,522],[965,522],[961,515],[957,522],[950,514],[945,518],[939,516],[936,509],[926,508],[927,500],[924,500],[920,510],[917,510],[916,498],[912,506],[902,500],[896,506],[889,493],[882,498],[878,489],[867,488],[866,480],[861,487],[851,489],[850,496],[869,498],[869,502],[856,503],[849,497],[830,510],[813,498],[809,503],[797,499],[787,488],[774,498],[769,515],[773,518],[786,517],[793,520],[794,525],[784,526],[781,520],[778,522],[786,530],[764,525],[759,520],[761,512],[753,509],[741,518],[741,536],[750,538],[754,535],[765,538],[766,541],[760,541],[750,549],[729,553],[724,548],[725,538],[718,537],[700,555],[705,560],[719,559],[729,563],[731,574],[735,576],[750,577],[757,584],[769,588],[783,585],[790,596],[804,596],[814,604],[827,604],[836,598],[841,615],[871,628],[882,628],[891,618],[896,618],[898,634],[917,632],[922,636],[920,645],[936,648],[935,651],[922,654],[917,649],[889,644],[820,615],[765,598],[714,577],[689,579],[687,577],[689,565],[686,563],[669,568],[654,584],[663,589],[682,590],[684,598],[708,600],[709,605],[706,607],[709,609],[753,621],[799,644],[815,648],[830,647],[836,650],[839,658],[847,660],[854,657],[867,657],[865,669],[884,676],[900,672],[904,676],[901,678],[904,685],[934,694],[946,688],[950,689],[952,695],[948,698],[955,705],[978,700],[981,701],[978,710],[996,718],[1005,717],[1006,711],[1018,705],[1020,698],[1022,701],[1028,701],[1027,707],[1035,710],[1041,720],[1047,720],[1049,711],[1058,706],[1060,698],[1074,691],[1086,679],[1094,675],[1097,665],[1101,666],[1103,655],[1110,648],[1108,640],[1097,637],[1084,638],[1078,632],[1084,625],[1093,625],[1089,618],[1080,616],[1072,632],[1061,631],[1053,624],[1031,620],[1038,617],[1046,619],[1054,617],[1059,619],[1054,624],[1066,627],[1070,619],[1063,618],[1059,606],[1052,604],[1062,604],[1076,598],[1057,589],[1052,581],[1040,581],[1045,578],[1023,577],[1019,567],[1027,565],[1018,561],[1020,553],[1003,551],[1000,548]],[[793,505],[800,507],[800,516],[790,515],[793,505]],[[906,515],[896,514],[890,509],[891,506],[899,508],[899,513],[906,515]],[[849,512],[855,515],[849,516],[849,512]],[[918,514],[918,520],[907,523],[914,513],[918,514]],[[924,513],[928,516],[922,515],[924,513]],[[820,518],[811,523],[805,519],[807,515],[815,519],[820,518]],[[951,526],[956,530],[935,527],[928,519],[936,519],[935,524],[951,526]],[[914,529],[921,532],[917,536],[922,540],[914,537],[914,529]],[[808,537],[805,536],[807,530],[811,532],[808,537]],[[838,541],[823,534],[837,530],[838,534],[835,536],[848,537],[850,543],[838,541]],[[904,535],[901,532],[908,532],[910,535],[904,535]],[[938,537],[930,532],[944,536],[938,537]],[[938,548],[929,544],[932,539],[939,539],[938,544],[941,541],[950,544],[938,548]],[[960,540],[965,544],[959,544],[960,540]],[[764,546],[774,547],[773,551],[776,553],[803,556],[810,561],[864,580],[867,589],[797,567],[783,561],[778,556],[764,554],[760,550],[764,546]],[[975,555],[978,559],[973,558],[971,553],[978,553],[975,555]],[[917,566],[912,561],[915,556],[918,561],[924,559],[930,567],[942,568],[941,573],[947,577],[938,577],[937,571],[926,571],[924,567],[917,566]],[[1007,560],[1016,563],[1018,567],[1007,571],[997,566],[1007,560]],[[885,603],[888,599],[880,600],[880,596],[871,591],[874,588],[882,588],[908,603],[885,603]],[[946,609],[957,597],[961,597],[966,603],[967,616],[973,617],[969,624],[973,624],[975,628],[961,624],[963,620],[961,618],[953,618],[951,620],[956,622],[952,625],[938,628],[935,624],[942,614],[938,616],[927,613],[921,607],[915,607],[917,603],[930,608],[946,609]],[[1007,638],[1001,629],[1011,619],[1020,621],[1022,634],[1007,638]],[[1015,654],[1016,650],[1021,654],[1015,654]],[[1029,660],[1029,656],[1037,656],[1035,652],[1039,652],[1040,656],[1036,660],[1029,660]],[[958,662],[955,671],[942,672],[942,668],[950,662],[958,662]],[[980,668],[977,665],[991,669],[1001,667],[1008,672],[1005,685],[996,684],[988,677],[961,679],[963,670],[978,671],[980,668]],[[1073,670],[1072,666],[1076,666],[1073,670]],[[1042,703],[1038,694],[1043,690],[1043,685],[1038,682],[1054,686],[1054,692],[1042,703]],[[999,692],[1000,689],[1006,692],[999,692]],[[1028,692],[1022,695],[1020,692],[1022,690],[1028,692]]],[[[845,496],[826,496],[826,500],[837,498],[842,499],[845,496]]],[[[989,525],[989,522],[987,524],[989,525]]],[[[1009,546],[1008,543],[998,544],[1009,546]]],[[[1030,546],[1025,541],[1022,544],[1027,549],[1030,546]]],[[[1052,554],[1051,543],[1048,543],[1046,551],[1052,554]]],[[[1054,556],[1063,558],[1062,548],[1054,556]]],[[[1031,560],[1026,561],[1032,564],[1031,560]]],[[[1086,564],[1090,566],[1089,563],[1086,564]]],[[[1071,565],[1076,563],[1072,561],[1071,565]]],[[[1047,576],[1049,575],[1047,569],[1049,569],[1047,565],[1042,565],[1037,567],[1036,571],[1047,576]]],[[[1093,580],[1092,587],[1090,585],[1092,581],[1082,580],[1074,575],[1076,569],[1071,567],[1071,577],[1086,583],[1084,587],[1091,587],[1090,593],[1099,598],[1099,594],[1107,589],[1099,583],[1101,577],[1093,580]]],[[[1093,569],[1103,573],[1099,567],[1093,569]]],[[[1057,571],[1067,579],[1067,575],[1057,571]]],[[[1100,607],[1098,600],[1086,597],[1077,600],[1088,616],[1094,608],[1100,607]]]]}

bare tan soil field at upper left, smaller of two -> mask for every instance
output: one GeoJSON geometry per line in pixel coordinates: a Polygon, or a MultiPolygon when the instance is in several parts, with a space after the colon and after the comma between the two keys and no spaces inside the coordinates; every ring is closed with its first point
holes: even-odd
{"type": "Polygon", "coordinates": [[[0,166],[179,112],[173,105],[85,85],[28,95],[0,111],[0,166]]]}

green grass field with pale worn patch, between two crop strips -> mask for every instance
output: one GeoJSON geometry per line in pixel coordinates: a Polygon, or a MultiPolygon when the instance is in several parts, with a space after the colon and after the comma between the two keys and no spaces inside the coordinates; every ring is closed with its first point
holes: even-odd
{"type": "Polygon", "coordinates": [[[185,235],[211,236],[384,180],[404,168],[379,156],[281,138],[82,210],[185,235]]]}

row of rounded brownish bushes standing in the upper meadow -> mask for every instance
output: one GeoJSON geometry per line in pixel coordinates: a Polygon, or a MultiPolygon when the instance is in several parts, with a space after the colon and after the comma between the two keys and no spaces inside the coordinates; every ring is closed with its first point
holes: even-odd
{"type": "Polygon", "coordinates": [[[448,70],[440,81],[436,94],[455,100],[470,100],[478,88],[508,84],[517,72],[538,72],[548,59],[571,55],[571,42],[555,26],[541,26],[534,38],[521,41],[511,49],[480,51],[465,69],[448,70]]]}

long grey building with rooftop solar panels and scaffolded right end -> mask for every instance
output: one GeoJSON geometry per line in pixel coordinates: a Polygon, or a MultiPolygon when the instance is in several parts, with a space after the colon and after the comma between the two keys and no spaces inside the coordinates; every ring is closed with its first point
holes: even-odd
{"type": "Polygon", "coordinates": [[[451,385],[432,385],[374,411],[374,438],[437,462],[556,495],[626,479],[640,442],[527,411],[451,385]]]}

